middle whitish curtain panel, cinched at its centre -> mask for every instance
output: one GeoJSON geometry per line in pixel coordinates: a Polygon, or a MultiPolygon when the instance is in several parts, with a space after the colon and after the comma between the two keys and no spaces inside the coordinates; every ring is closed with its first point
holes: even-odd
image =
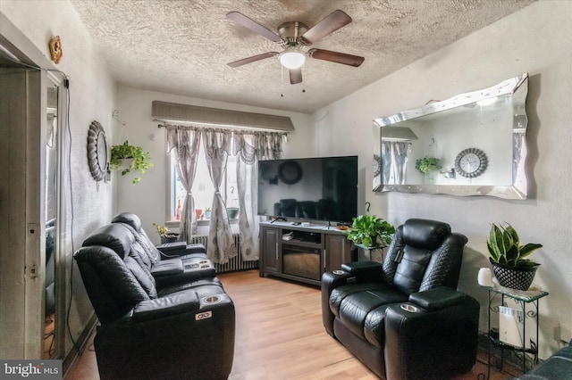
{"type": "Polygon", "coordinates": [[[215,263],[225,264],[236,256],[231,224],[220,188],[226,161],[231,151],[232,132],[225,129],[203,129],[206,166],[214,186],[211,222],[206,241],[206,254],[215,263]]]}

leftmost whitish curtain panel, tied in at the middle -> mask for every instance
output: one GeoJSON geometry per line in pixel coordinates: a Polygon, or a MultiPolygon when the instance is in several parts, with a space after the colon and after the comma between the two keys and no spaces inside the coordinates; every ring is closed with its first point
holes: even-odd
{"type": "Polygon", "coordinates": [[[200,146],[200,129],[165,126],[167,128],[167,154],[176,149],[177,175],[187,192],[182,203],[181,223],[179,225],[179,240],[190,241],[197,234],[197,220],[195,217],[195,201],[191,192],[195,173],[197,172],[198,149],[200,146]]]}

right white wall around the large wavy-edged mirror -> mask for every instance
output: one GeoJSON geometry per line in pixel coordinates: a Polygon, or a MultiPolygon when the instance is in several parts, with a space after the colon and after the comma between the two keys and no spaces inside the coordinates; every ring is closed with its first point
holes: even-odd
{"type": "MultiPolygon", "coordinates": [[[[467,235],[459,288],[481,302],[486,330],[486,291],[476,284],[487,261],[490,223],[508,221],[523,243],[542,243],[534,285],[551,293],[540,302],[541,358],[559,347],[555,330],[572,325],[572,2],[539,1],[398,70],[315,113],[319,154],[358,153],[366,172],[365,200],[391,223],[440,219],[467,235]],[[529,195],[526,201],[428,194],[374,194],[372,120],[417,108],[431,99],[490,87],[523,72],[530,75],[529,195]]],[[[357,69],[358,70],[358,69],[357,69]]]]}

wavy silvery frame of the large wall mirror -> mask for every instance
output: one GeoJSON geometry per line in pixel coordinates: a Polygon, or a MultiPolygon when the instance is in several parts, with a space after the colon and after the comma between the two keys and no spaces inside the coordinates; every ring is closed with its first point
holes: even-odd
{"type": "Polygon", "coordinates": [[[408,110],[395,115],[374,120],[374,192],[400,192],[422,194],[450,194],[458,196],[488,195],[505,199],[524,200],[527,196],[527,179],[525,172],[526,162],[526,96],[528,95],[528,74],[524,73],[515,78],[509,78],[496,86],[484,88],[474,92],[460,94],[442,102],[428,103],[421,108],[408,110]],[[384,128],[399,127],[405,120],[416,120],[427,115],[438,116],[454,108],[471,107],[486,99],[493,99],[502,95],[512,95],[513,98],[513,170],[512,183],[507,186],[497,185],[388,185],[382,183],[380,168],[383,168],[382,138],[384,128]],[[517,144],[514,142],[517,141],[517,144]],[[519,146],[517,146],[519,145],[519,146]]]}

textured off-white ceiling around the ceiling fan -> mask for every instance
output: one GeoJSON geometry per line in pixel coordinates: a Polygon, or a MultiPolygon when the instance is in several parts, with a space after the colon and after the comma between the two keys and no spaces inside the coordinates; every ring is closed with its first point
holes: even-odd
{"type": "MultiPolygon", "coordinates": [[[[121,84],[295,112],[315,112],[534,0],[71,0],[121,84]],[[290,85],[277,58],[226,63],[282,47],[226,18],[276,31],[314,26],[336,9],[353,22],[311,47],[364,56],[354,68],[308,59],[290,85]]],[[[63,41],[65,46],[65,41],[63,41]]]]}

